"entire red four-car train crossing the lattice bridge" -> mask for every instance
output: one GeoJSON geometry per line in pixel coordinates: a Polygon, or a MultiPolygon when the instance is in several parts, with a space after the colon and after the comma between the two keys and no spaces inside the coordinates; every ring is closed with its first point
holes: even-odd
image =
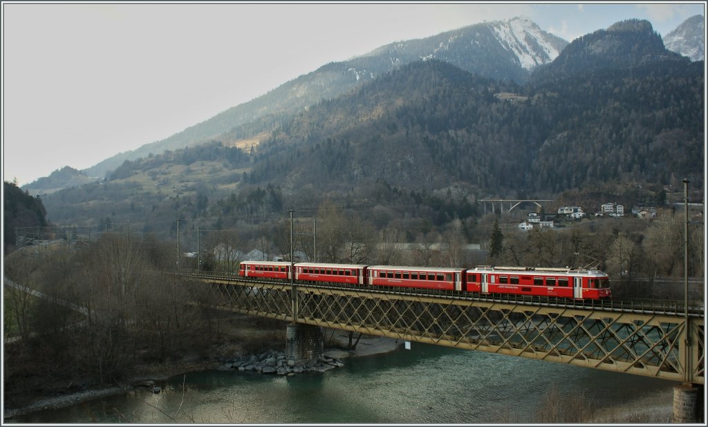
{"type": "MultiPolygon", "coordinates": [[[[610,298],[610,279],[598,270],[532,267],[401,267],[363,264],[293,264],[297,281],[397,286],[476,293],[610,298]]],[[[244,261],[239,276],[290,279],[289,262],[244,261]]]]}

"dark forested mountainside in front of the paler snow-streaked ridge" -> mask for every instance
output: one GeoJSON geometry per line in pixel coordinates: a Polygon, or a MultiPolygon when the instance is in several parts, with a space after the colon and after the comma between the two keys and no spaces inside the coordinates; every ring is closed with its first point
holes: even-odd
{"type": "Polygon", "coordinates": [[[632,21],[575,40],[523,86],[412,62],[297,115],[264,115],[43,197],[57,223],[143,231],[174,218],[257,224],[325,200],[376,208],[377,228],[464,221],[489,197],[656,204],[683,177],[702,188],[703,119],[704,63],[632,21]]]}

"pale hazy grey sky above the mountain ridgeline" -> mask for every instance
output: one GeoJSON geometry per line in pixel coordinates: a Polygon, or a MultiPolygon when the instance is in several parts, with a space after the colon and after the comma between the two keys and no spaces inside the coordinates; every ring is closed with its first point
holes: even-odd
{"type": "Polygon", "coordinates": [[[569,42],[629,18],[666,35],[705,5],[4,1],[4,180],[89,168],[397,40],[515,16],[569,42]]]}

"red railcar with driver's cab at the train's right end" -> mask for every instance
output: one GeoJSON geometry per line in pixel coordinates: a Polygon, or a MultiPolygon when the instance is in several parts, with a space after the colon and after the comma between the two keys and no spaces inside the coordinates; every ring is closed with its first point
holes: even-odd
{"type": "Polygon", "coordinates": [[[611,296],[610,279],[598,270],[484,266],[466,274],[469,292],[593,300],[611,296]]]}

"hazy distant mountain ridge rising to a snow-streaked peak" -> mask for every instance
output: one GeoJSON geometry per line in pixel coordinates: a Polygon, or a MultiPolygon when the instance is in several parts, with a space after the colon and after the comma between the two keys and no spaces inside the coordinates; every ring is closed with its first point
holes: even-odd
{"type": "Polygon", "coordinates": [[[410,62],[439,59],[481,76],[525,82],[533,69],[555,59],[568,44],[527,18],[470,25],[420,40],[394,42],[345,62],[333,62],[254,100],[134,151],[119,153],[84,170],[103,177],[125,160],[219,139],[253,144],[275,127],[320,100],[336,98],[410,62]]]}

